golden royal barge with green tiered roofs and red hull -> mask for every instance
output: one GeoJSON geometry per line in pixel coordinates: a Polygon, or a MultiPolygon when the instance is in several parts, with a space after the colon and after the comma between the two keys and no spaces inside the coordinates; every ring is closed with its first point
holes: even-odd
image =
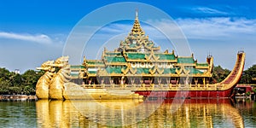
{"type": "Polygon", "coordinates": [[[82,65],[68,64],[68,57],[46,61],[39,70],[38,99],[125,99],[142,97],[229,97],[245,63],[238,52],[230,75],[211,83],[213,57],[199,63],[193,54],[177,56],[174,50],[160,52],[160,46],[145,35],[136,15],[131,32],[113,51],[104,49],[101,60],[82,65]]]}

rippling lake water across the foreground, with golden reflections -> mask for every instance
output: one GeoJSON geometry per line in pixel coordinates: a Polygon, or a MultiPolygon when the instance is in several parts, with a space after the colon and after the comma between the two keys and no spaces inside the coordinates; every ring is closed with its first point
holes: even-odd
{"type": "Polygon", "coordinates": [[[256,102],[230,99],[0,102],[0,127],[256,127],[256,102]]]}

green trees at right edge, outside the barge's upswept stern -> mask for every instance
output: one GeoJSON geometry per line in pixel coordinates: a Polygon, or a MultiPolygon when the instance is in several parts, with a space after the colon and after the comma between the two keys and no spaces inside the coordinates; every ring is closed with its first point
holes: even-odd
{"type": "Polygon", "coordinates": [[[256,84],[256,65],[249,67],[241,76],[241,84],[256,84]]]}

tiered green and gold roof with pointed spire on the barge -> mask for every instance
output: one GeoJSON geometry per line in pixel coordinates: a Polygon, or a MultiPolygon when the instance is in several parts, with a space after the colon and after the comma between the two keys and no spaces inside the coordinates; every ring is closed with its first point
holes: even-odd
{"type": "Polygon", "coordinates": [[[95,69],[99,69],[101,71],[98,73],[102,73],[103,76],[110,73],[111,75],[113,73],[119,75],[123,72],[125,74],[133,74],[134,71],[136,71],[136,74],[151,76],[152,73],[157,71],[165,76],[190,73],[201,77],[201,74],[208,74],[206,73],[207,70],[211,69],[210,62],[197,63],[193,55],[187,57],[177,56],[174,51],[169,53],[167,50],[160,53],[160,47],[156,47],[154,42],[150,41],[148,36],[145,35],[137,15],[131,32],[120,42],[118,49],[113,51],[104,49],[102,60],[90,60],[86,61],[86,63],[90,68],[88,73],[96,74],[95,69]]]}

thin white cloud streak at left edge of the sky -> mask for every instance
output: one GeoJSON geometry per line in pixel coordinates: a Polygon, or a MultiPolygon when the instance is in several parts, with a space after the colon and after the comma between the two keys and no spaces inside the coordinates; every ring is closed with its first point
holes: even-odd
{"type": "Polygon", "coordinates": [[[38,44],[51,44],[53,41],[49,36],[44,34],[31,35],[31,34],[20,34],[14,32],[0,32],[0,38],[10,38],[17,40],[24,40],[35,42],[38,44]]]}

